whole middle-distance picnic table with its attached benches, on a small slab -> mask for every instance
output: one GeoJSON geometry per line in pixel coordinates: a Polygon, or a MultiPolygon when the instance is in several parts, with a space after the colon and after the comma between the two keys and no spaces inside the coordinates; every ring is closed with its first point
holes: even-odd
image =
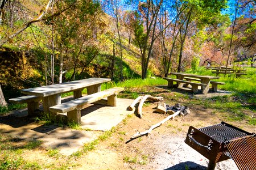
{"type": "MultiPolygon", "coordinates": [[[[219,77],[217,76],[208,76],[208,75],[195,75],[195,74],[187,74],[187,73],[170,73],[170,74],[176,75],[176,79],[164,78],[168,81],[168,87],[181,88],[184,86],[184,84],[185,86],[190,84],[192,87],[192,92],[194,94],[198,93],[198,86],[201,86],[201,90],[203,94],[207,94],[209,92],[209,87],[211,84],[210,80],[219,79],[219,77]],[[192,80],[195,80],[197,82],[192,82],[192,80]],[[174,84],[174,82],[177,82],[177,84],[174,84]]],[[[215,87],[216,85],[213,85],[213,86],[215,87]]]]}

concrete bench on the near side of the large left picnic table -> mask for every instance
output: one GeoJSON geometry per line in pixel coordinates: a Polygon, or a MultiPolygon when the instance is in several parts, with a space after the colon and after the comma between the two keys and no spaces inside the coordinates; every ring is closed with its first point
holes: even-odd
{"type": "Polygon", "coordinates": [[[101,104],[104,104],[105,101],[106,105],[115,107],[117,94],[121,91],[123,91],[123,88],[121,87],[109,88],[108,90],[100,91],[91,95],[80,97],[79,99],[49,107],[49,111],[53,113],[67,112],[69,122],[74,121],[77,124],[81,124],[81,109],[83,109],[86,105],[104,99],[105,97],[108,97],[108,100],[101,101],[101,104]]]}

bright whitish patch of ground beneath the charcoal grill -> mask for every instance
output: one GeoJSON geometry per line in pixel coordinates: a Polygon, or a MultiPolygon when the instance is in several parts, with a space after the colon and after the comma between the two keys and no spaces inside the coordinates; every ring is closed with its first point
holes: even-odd
{"type": "MultiPolygon", "coordinates": [[[[209,160],[184,142],[184,137],[162,136],[154,145],[162,145],[155,155],[156,169],[207,169],[209,160]]],[[[233,160],[217,163],[215,169],[238,169],[233,160]]]]}

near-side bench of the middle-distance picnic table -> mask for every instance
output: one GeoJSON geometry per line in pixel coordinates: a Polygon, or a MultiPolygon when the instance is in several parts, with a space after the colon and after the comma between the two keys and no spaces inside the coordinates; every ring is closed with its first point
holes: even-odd
{"type": "Polygon", "coordinates": [[[202,87],[204,88],[207,86],[207,84],[205,83],[197,83],[197,82],[191,82],[191,81],[180,80],[180,79],[172,79],[172,78],[163,78],[163,79],[166,79],[168,81],[169,88],[175,87],[174,85],[180,88],[183,86],[183,84],[190,84],[192,86],[192,91],[194,94],[198,93],[198,86],[201,86],[201,88],[202,87]],[[174,84],[174,82],[177,82],[177,84],[174,84]]]}

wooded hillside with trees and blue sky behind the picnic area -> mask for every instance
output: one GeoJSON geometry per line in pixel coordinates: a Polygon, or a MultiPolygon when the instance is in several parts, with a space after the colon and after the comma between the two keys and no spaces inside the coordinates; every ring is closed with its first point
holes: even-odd
{"type": "Polygon", "coordinates": [[[76,79],[163,77],[208,63],[253,67],[255,7],[254,0],[0,0],[1,105],[22,88],[76,79]]]}

